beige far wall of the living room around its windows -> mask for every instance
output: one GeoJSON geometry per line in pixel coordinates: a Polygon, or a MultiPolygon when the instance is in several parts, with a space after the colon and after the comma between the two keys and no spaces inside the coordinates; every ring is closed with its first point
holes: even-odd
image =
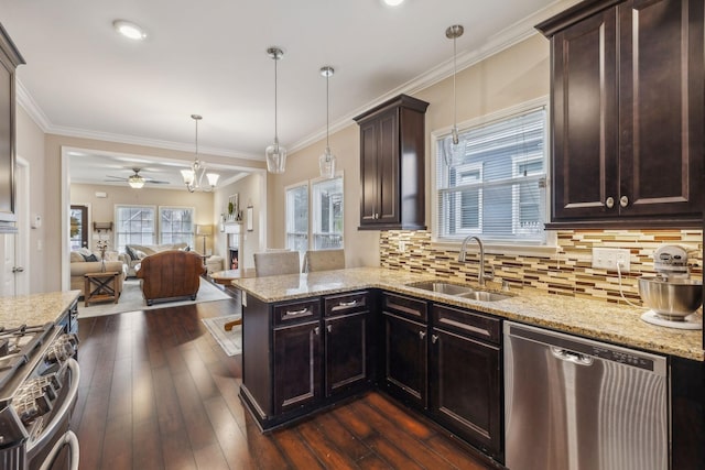
{"type": "MultiPolygon", "coordinates": [[[[175,189],[153,189],[143,187],[141,189],[132,189],[127,184],[117,185],[70,185],[70,204],[88,206],[88,248],[95,250],[97,240],[93,239],[93,222],[113,222],[115,223],[115,206],[134,205],[134,206],[154,206],[159,210],[160,206],[172,207],[193,207],[195,223],[197,225],[215,225],[217,219],[213,214],[213,193],[187,193],[185,190],[175,189]],[[97,197],[96,193],[106,193],[106,197],[97,197]]],[[[111,233],[108,250],[115,250],[115,229],[111,233]]],[[[156,243],[159,240],[158,232],[154,233],[156,243]]],[[[203,237],[194,239],[194,250],[203,251],[203,237]]],[[[213,250],[213,237],[206,237],[206,250],[213,250]]]]}

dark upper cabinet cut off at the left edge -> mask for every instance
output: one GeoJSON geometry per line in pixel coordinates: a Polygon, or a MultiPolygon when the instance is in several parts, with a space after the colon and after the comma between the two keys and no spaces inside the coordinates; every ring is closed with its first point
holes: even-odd
{"type": "Polygon", "coordinates": [[[14,70],[24,59],[0,24],[0,233],[15,232],[15,85],[14,70]]]}

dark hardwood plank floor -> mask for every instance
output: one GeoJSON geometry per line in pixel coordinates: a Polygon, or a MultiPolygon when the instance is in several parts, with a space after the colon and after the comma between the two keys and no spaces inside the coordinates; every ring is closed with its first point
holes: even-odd
{"type": "Polygon", "coordinates": [[[72,428],[80,469],[486,469],[441,428],[379,393],[262,435],[238,398],[240,357],[204,317],[235,300],[79,320],[72,428]]]}

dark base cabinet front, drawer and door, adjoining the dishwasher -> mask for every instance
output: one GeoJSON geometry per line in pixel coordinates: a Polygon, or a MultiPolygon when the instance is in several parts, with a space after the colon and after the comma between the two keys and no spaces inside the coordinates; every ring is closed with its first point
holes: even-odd
{"type": "Polygon", "coordinates": [[[453,433],[503,461],[501,323],[443,305],[433,305],[432,316],[430,411],[453,433]]]}

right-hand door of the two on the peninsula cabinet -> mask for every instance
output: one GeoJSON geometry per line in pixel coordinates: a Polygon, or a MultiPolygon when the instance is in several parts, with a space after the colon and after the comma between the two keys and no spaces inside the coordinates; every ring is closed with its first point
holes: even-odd
{"type": "Polygon", "coordinates": [[[367,311],[327,318],[326,396],[367,382],[367,311]]]}

